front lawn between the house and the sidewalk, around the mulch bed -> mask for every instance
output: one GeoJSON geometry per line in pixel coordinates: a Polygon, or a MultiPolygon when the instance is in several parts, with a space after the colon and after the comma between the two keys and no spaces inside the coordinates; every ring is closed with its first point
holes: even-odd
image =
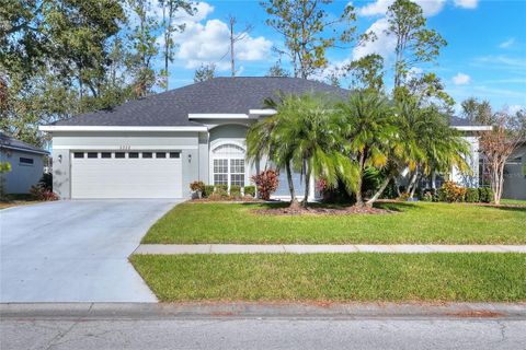
{"type": "MultiPolygon", "coordinates": [[[[381,203],[393,214],[261,215],[256,203],[182,203],[142,238],[149,244],[525,244],[526,208],[381,203]]],[[[275,205],[274,205],[275,206],[275,205]]]]}

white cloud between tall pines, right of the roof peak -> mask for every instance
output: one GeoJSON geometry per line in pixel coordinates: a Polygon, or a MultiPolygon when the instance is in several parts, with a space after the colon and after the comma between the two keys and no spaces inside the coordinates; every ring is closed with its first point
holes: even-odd
{"type": "Polygon", "coordinates": [[[359,59],[369,54],[378,54],[385,59],[388,59],[397,46],[396,37],[386,33],[388,27],[389,23],[385,18],[373,23],[367,32],[375,33],[377,37],[376,40],[367,42],[365,45],[355,47],[353,50],[353,59],[359,59]]]}

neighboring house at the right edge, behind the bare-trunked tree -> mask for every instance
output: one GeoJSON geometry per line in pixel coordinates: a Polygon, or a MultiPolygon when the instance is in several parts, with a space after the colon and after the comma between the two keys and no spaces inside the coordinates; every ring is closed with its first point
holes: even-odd
{"type": "Polygon", "coordinates": [[[502,198],[526,199],[526,141],[512,153],[504,166],[502,198]]]}

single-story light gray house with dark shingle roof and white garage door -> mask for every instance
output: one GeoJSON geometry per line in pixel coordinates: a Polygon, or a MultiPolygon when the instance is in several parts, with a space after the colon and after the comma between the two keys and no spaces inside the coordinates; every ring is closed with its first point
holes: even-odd
{"type": "MultiPolygon", "coordinates": [[[[249,185],[261,164],[247,164],[245,133],[274,113],[264,100],[278,92],[350,93],[298,78],[216,78],[42,126],[53,137],[54,190],[61,198],[187,198],[197,179],[249,185]]],[[[298,196],[301,180],[295,174],[298,196]]],[[[285,178],[275,195],[288,195],[285,178]]]]}

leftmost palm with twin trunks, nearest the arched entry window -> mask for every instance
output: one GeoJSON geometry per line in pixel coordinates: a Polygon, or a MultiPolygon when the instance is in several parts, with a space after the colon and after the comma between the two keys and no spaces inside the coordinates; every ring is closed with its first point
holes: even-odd
{"type": "Polygon", "coordinates": [[[352,188],[350,160],[341,152],[338,119],[328,96],[284,95],[275,104],[276,114],[254,124],[247,135],[247,156],[264,156],[279,168],[285,167],[290,190],[290,206],[298,206],[291,171],[305,177],[302,206],[308,205],[309,179],[322,177],[329,186],[342,178],[352,188]]]}

